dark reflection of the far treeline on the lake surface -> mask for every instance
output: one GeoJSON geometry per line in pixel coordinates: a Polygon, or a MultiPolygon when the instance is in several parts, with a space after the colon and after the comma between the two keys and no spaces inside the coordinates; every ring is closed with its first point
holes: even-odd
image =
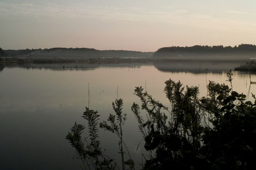
{"type": "MultiPolygon", "coordinates": [[[[162,72],[190,72],[195,74],[200,73],[222,73],[223,71],[234,70],[235,67],[242,63],[238,61],[167,61],[167,62],[151,62],[151,63],[118,63],[118,64],[23,64],[23,65],[8,65],[6,67],[14,68],[21,67],[25,69],[45,69],[45,70],[94,70],[101,67],[116,68],[128,67],[129,69],[139,69],[141,66],[153,65],[157,70],[162,72]]],[[[4,66],[0,67],[0,71],[4,66]]]]}

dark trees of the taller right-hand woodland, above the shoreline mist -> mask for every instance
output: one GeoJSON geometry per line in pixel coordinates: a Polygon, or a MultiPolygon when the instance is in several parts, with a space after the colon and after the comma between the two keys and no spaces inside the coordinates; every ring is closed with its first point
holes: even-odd
{"type": "Polygon", "coordinates": [[[183,57],[183,56],[200,56],[200,55],[246,55],[255,54],[256,46],[251,44],[241,44],[235,47],[231,46],[192,46],[192,47],[163,47],[159,48],[155,53],[154,57],[183,57]]]}

